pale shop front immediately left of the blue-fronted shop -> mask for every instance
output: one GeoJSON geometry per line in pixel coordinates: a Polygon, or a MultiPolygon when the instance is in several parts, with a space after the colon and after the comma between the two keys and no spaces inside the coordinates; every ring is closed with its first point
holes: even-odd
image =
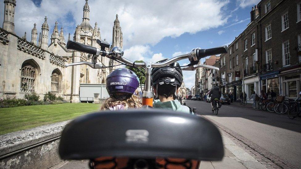
{"type": "Polygon", "coordinates": [[[259,76],[245,78],[245,93],[247,94],[247,98],[251,97],[253,91],[260,95],[259,76]]]}

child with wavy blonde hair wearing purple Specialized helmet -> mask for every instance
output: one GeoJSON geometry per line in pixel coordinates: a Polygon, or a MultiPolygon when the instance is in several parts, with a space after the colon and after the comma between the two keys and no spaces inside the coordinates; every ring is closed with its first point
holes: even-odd
{"type": "Polygon", "coordinates": [[[106,89],[110,95],[101,105],[101,110],[126,110],[142,107],[139,98],[139,78],[127,68],[120,68],[110,73],[105,81],[106,89]]]}

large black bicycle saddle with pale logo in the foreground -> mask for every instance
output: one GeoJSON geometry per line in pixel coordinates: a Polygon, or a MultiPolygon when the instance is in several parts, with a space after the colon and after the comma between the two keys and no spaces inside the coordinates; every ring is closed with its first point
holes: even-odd
{"type": "Polygon", "coordinates": [[[59,145],[62,159],[101,156],[221,160],[221,134],[199,116],[162,109],[103,111],[66,125],[59,145]]]}

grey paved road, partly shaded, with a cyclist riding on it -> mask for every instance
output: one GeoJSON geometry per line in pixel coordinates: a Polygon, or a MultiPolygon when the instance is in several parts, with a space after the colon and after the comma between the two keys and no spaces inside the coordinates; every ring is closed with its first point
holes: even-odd
{"type": "Polygon", "coordinates": [[[287,114],[278,115],[266,111],[254,111],[250,106],[223,105],[218,115],[213,115],[210,103],[185,101],[196,107],[197,113],[217,124],[234,131],[257,148],[274,155],[275,159],[301,166],[301,118],[289,119],[287,114]]]}

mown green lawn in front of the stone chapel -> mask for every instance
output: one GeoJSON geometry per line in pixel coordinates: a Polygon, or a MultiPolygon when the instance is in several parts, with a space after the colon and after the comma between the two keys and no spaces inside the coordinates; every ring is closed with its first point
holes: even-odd
{"type": "Polygon", "coordinates": [[[0,109],[0,134],[74,119],[97,111],[100,104],[65,103],[0,109]]]}

